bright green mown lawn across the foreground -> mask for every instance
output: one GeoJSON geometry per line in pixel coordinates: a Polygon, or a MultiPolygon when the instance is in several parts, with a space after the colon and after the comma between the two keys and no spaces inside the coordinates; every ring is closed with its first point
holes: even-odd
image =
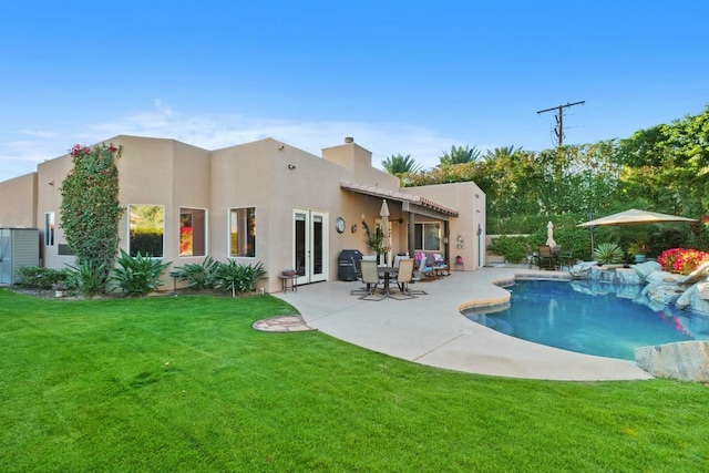
{"type": "Polygon", "coordinates": [[[270,296],[0,290],[0,471],[709,471],[709,389],[471,376],[320,332],[270,296]]]}

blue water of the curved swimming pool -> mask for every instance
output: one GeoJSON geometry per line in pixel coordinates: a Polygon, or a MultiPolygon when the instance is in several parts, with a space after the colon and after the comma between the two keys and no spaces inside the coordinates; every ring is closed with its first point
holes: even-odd
{"type": "Polygon", "coordinates": [[[523,340],[627,360],[636,347],[709,340],[709,318],[653,307],[640,286],[518,281],[507,290],[508,308],[467,310],[465,317],[523,340]]]}

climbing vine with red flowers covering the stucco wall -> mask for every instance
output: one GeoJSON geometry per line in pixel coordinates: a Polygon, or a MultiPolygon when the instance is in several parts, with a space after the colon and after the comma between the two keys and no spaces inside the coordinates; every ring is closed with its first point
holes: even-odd
{"type": "Polygon", "coordinates": [[[75,145],[73,168],[62,183],[61,228],[78,265],[101,268],[107,278],[119,250],[119,171],[122,146],[75,145]]]}

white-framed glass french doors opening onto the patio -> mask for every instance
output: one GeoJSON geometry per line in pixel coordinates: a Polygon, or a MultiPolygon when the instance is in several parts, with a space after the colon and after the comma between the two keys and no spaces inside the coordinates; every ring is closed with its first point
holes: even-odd
{"type": "Polygon", "coordinates": [[[328,279],[328,214],[317,210],[292,212],[296,282],[308,284],[328,279]]]}

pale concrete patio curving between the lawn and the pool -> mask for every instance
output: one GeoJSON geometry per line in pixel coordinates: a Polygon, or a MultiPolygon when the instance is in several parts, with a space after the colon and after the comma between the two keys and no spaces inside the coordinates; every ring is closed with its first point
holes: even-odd
{"type": "Polygon", "coordinates": [[[320,282],[274,296],[300,311],[315,329],[359,347],[431,367],[511,378],[600,381],[641,380],[650,374],[635,362],[551,348],[505,336],[463,317],[464,307],[500,305],[508,292],[494,281],[559,278],[561,271],[483,268],[412,288],[427,296],[381,301],[350,296],[359,282],[320,282]]]}

